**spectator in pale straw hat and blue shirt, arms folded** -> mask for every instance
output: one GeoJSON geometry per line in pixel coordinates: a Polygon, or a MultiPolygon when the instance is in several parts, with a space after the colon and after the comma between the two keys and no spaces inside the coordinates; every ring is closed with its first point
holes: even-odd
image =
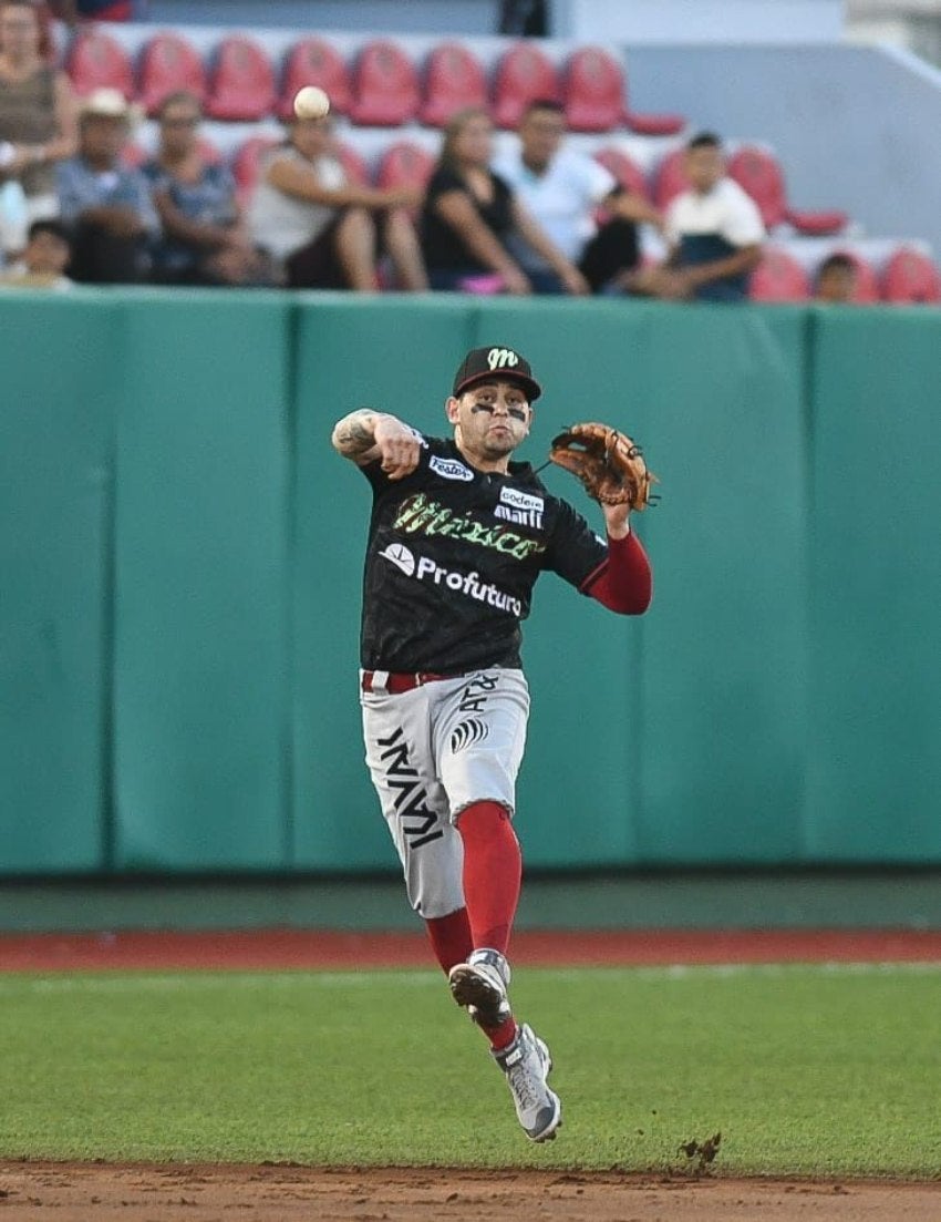
{"type": "Polygon", "coordinates": [[[121,161],[132,117],[120,90],[93,90],[79,110],[78,155],[57,170],[71,271],[82,282],[133,284],[150,273],[160,220],[146,178],[121,161]]]}

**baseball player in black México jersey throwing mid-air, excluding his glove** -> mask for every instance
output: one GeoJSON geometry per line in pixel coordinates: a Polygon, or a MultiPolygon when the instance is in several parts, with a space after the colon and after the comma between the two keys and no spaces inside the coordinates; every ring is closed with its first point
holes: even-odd
{"type": "Polygon", "coordinates": [[[452,995],[485,1031],[532,1141],[555,1136],[546,1044],[517,1023],[507,949],[521,884],[513,830],[530,695],[520,626],[552,569],[622,615],[651,600],[630,505],[607,540],[513,462],[542,393],[513,348],[475,348],[444,411],[452,437],[361,408],[332,442],[372,486],[360,700],[366,763],[452,995]]]}

